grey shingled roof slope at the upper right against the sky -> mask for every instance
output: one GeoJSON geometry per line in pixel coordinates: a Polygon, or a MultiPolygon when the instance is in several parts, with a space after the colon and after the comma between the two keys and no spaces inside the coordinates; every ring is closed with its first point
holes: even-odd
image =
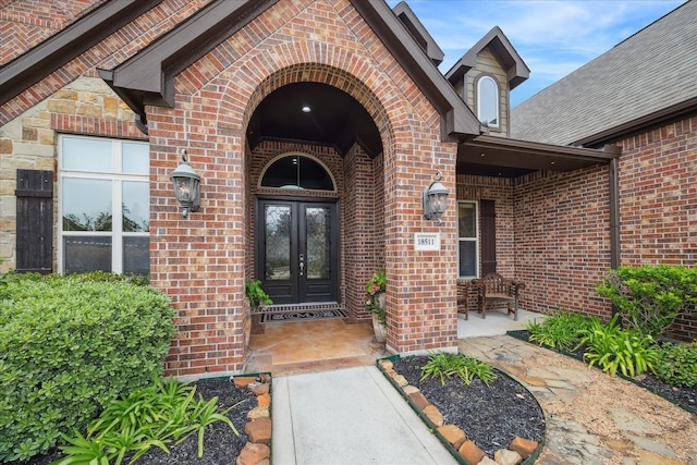
{"type": "Polygon", "coordinates": [[[576,145],[697,98],[689,0],[511,112],[512,137],[576,145]]]}

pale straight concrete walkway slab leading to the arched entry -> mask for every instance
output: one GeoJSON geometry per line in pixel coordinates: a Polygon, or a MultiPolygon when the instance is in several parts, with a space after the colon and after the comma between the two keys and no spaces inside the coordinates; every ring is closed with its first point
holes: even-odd
{"type": "Polygon", "coordinates": [[[456,464],[377,367],[273,377],[273,465],[456,464]]]}

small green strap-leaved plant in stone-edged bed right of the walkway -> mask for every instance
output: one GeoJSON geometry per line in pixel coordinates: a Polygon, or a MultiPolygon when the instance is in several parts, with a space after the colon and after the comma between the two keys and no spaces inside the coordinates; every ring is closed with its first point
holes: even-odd
{"type": "Polygon", "coordinates": [[[441,384],[445,384],[445,378],[456,375],[465,384],[479,378],[489,386],[496,379],[491,365],[479,362],[475,357],[463,354],[450,354],[447,352],[432,353],[428,363],[421,367],[421,381],[427,378],[440,378],[441,384]]]}

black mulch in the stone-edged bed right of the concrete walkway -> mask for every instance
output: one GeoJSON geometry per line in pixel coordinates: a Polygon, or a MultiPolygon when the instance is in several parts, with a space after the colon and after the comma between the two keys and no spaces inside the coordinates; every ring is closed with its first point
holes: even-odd
{"type": "Polygon", "coordinates": [[[517,381],[494,370],[497,379],[488,387],[479,379],[465,384],[458,377],[419,381],[427,356],[394,362],[394,370],[418,388],[443,415],[445,424],[463,429],[490,457],[508,449],[516,436],[537,442],[545,438],[545,414],[535,397],[517,381]]]}

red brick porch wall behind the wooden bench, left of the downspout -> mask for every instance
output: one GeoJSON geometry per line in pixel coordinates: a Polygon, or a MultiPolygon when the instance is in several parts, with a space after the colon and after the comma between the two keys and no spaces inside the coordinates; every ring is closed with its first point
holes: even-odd
{"type": "Polygon", "coordinates": [[[522,307],[607,316],[595,285],[610,268],[608,166],[515,182],[515,274],[522,307]]]}

